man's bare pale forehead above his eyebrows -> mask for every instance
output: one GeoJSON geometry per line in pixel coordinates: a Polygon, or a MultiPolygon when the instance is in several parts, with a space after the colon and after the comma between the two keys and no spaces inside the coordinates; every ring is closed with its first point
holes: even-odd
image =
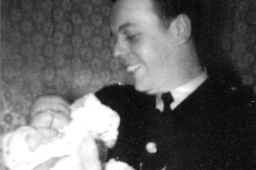
{"type": "Polygon", "coordinates": [[[118,29],[123,24],[140,24],[156,18],[151,0],[118,0],[112,8],[111,28],[118,29]]]}

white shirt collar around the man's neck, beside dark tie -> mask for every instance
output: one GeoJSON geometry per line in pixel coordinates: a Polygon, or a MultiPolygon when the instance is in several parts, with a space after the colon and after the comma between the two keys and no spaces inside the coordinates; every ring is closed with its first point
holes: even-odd
{"type": "MultiPolygon", "coordinates": [[[[171,109],[175,109],[183,100],[185,100],[190,94],[192,94],[198,86],[200,86],[208,78],[207,71],[200,74],[198,77],[194,78],[190,82],[183,84],[174,90],[170,90],[174,102],[171,104],[171,109]]],[[[164,104],[161,100],[161,94],[156,95],[156,108],[163,111],[164,104]]]]}

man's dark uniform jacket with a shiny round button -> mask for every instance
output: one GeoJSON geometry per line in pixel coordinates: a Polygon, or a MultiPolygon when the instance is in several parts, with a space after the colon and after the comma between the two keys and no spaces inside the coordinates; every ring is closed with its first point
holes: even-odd
{"type": "Polygon", "coordinates": [[[155,109],[155,96],[128,85],[104,87],[96,96],[121,118],[109,158],[137,170],[256,169],[251,92],[208,78],[171,113],[155,109]],[[156,152],[146,149],[150,142],[156,152]]]}

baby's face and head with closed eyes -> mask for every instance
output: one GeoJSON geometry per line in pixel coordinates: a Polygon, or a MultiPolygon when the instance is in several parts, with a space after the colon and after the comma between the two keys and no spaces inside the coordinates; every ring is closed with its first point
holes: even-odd
{"type": "Polygon", "coordinates": [[[58,96],[44,96],[33,104],[30,117],[32,127],[63,129],[70,122],[70,107],[68,102],[58,96]]]}

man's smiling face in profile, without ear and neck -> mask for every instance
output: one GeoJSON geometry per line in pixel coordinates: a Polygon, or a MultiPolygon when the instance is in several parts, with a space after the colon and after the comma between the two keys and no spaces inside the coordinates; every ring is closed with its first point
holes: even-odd
{"type": "Polygon", "coordinates": [[[114,56],[134,76],[135,88],[148,94],[159,92],[177,72],[175,39],[165,28],[150,0],[119,0],[113,6],[111,31],[116,38],[114,56]],[[172,73],[172,75],[170,75],[172,73]]]}

